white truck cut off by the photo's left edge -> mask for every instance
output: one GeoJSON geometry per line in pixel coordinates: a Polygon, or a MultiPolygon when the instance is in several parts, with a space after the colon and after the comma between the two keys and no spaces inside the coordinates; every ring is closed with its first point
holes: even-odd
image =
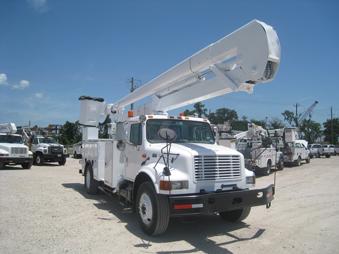
{"type": "Polygon", "coordinates": [[[0,169],[5,165],[21,165],[24,169],[32,166],[33,154],[16,131],[14,123],[0,124],[0,169]]]}

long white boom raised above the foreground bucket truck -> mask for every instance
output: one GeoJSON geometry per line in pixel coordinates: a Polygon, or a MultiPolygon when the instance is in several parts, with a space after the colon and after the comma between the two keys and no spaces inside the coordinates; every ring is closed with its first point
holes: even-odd
{"type": "Polygon", "coordinates": [[[135,115],[166,112],[232,91],[252,93],[257,83],[274,79],[279,62],[276,31],[253,20],[122,100],[108,104],[105,113],[121,114],[124,106],[150,95],[153,101],[135,108],[135,115]]]}

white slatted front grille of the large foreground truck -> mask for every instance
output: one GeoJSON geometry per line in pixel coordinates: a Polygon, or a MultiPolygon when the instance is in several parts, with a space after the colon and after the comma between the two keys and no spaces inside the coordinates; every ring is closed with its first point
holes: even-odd
{"type": "Polygon", "coordinates": [[[239,155],[196,155],[194,163],[196,181],[241,177],[239,155]]]}

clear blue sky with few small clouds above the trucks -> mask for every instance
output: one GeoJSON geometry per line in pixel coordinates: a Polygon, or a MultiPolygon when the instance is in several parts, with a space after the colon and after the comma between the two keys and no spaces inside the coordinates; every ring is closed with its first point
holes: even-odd
{"type": "Polygon", "coordinates": [[[81,95],[115,103],[131,77],[144,85],[253,19],[277,31],[276,78],[205,108],[283,120],[318,101],[312,120],[323,123],[331,107],[339,117],[338,10],[337,0],[2,0],[0,123],[75,122],[81,95]]]}

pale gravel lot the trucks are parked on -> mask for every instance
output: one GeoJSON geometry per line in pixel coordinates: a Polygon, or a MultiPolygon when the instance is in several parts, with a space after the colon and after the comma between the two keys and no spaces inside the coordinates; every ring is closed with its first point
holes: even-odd
{"type": "MultiPolygon", "coordinates": [[[[252,208],[244,222],[171,219],[157,237],[141,231],[117,196],[87,194],[76,159],[7,166],[0,170],[0,253],[338,253],[338,165],[331,156],[277,171],[272,207],[252,208]]],[[[257,187],[274,179],[258,176],[257,187]]]]}

